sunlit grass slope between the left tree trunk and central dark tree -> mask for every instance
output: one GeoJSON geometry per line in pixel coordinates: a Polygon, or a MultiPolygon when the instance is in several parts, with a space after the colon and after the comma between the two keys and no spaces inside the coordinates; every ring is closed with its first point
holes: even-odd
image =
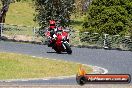
{"type": "Polygon", "coordinates": [[[36,26],[33,21],[35,9],[32,2],[11,3],[6,16],[7,24],[36,26]]]}

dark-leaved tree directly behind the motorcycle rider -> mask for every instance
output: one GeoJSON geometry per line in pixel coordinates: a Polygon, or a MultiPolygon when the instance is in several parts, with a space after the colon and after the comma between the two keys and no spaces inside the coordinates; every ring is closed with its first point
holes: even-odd
{"type": "Polygon", "coordinates": [[[35,21],[44,28],[49,20],[61,19],[61,25],[68,25],[70,14],[74,10],[74,0],[34,0],[36,8],[35,21]]]}

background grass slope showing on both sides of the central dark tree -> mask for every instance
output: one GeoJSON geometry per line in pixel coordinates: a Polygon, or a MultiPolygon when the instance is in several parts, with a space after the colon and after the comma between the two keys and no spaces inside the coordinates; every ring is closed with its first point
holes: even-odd
{"type": "MultiPolygon", "coordinates": [[[[6,16],[7,24],[16,24],[16,25],[24,25],[24,26],[38,26],[37,23],[33,21],[35,14],[35,8],[32,2],[16,2],[11,3],[9,10],[6,16]]],[[[82,23],[84,20],[84,16],[77,16],[76,14],[71,15],[71,20],[74,22],[71,23],[71,26],[75,30],[79,30],[82,28],[82,23]]]]}

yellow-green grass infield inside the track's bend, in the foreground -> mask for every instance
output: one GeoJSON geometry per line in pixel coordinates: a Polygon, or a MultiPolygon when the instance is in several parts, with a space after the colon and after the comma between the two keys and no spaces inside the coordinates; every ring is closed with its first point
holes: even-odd
{"type": "MultiPolygon", "coordinates": [[[[78,67],[79,65],[73,62],[0,53],[0,80],[74,75],[78,67]]],[[[84,68],[88,73],[92,71],[90,67],[84,66],[84,68]]]]}

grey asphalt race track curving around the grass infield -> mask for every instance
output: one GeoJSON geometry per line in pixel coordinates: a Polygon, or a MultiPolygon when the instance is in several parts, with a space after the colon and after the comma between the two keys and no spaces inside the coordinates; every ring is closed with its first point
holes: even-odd
{"type": "MultiPolygon", "coordinates": [[[[0,52],[28,54],[37,57],[79,62],[108,69],[109,73],[132,75],[132,52],[72,47],[73,54],[56,54],[45,45],[0,41],[0,52]]],[[[62,68],[63,69],[63,68],[62,68]]],[[[0,82],[7,83],[7,82],[0,82]]],[[[75,85],[75,77],[50,80],[13,81],[17,84],[75,85]]]]}

